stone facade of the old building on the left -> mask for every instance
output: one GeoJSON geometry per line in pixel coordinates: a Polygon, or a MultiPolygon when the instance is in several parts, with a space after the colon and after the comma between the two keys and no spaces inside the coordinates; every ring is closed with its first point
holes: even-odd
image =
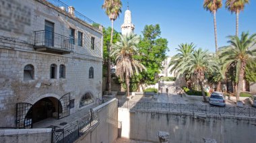
{"type": "Polygon", "coordinates": [[[34,104],[44,97],[60,99],[71,93],[78,111],[82,95],[102,96],[102,32],[61,11],[44,0],[0,0],[0,127],[15,127],[16,103],[34,104]],[[5,22],[2,22],[5,21],[5,22]],[[45,21],[54,23],[57,34],[69,37],[75,29],[75,45],[70,54],[38,52],[34,49],[34,31],[44,30],[45,21]],[[84,46],[77,45],[78,31],[84,33],[84,46]],[[90,48],[91,37],[95,49],[90,48]],[[24,81],[24,66],[34,66],[34,79],[24,81]],[[50,79],[50,66],[57,64],[57,78],[50,79]],[[59,67],[65,65],[65,79],[59,67]],[[94,78],[89,79],[89,68],[94,78]]]}

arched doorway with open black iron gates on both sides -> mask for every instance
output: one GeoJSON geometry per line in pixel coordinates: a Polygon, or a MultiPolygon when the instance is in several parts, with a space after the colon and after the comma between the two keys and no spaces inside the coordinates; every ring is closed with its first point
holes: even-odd
{"type": "Polygon", "coordinates": [[[49,117],[61,119],[70,113],[70,93],[60,99],[44,97],[33,105],[31,103],[16,104],[16,128],[32,128],[32,124],[49,117]]]}

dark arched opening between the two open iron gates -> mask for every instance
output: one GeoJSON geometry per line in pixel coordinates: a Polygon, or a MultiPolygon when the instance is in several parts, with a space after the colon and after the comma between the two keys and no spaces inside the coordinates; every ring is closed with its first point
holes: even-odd
{"type": "Polygon", "coordinates": [[[26,119],[32,119],[32,124],[49,117],[58,119],[58,109],[62,109],[58,99],[55,97],[45,97],[30,107],[26,114],[26,119]],[[58,108],[58,106],[60,107],[58,108]]]}

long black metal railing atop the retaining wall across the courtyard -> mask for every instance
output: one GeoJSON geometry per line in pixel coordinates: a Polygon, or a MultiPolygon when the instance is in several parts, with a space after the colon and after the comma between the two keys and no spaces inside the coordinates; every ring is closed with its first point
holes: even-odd
{"type": "Polygon", "coordinates": [[[165,111],[176,113],[200,113],[210,115],[231,115],[256,118],[256,109],[252,107],[216,107],[209,105],[133,101],[119,101],[119,107],[131,110],[165,111]]]}

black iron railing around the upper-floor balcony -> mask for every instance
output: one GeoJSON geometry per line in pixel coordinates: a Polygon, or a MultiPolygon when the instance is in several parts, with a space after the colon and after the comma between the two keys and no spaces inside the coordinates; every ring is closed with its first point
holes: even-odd
{"type": "Polygon", "coordinates": [[[48,30],[34,32],[34,46],[73,51],[73,39],[48,30]]]}

